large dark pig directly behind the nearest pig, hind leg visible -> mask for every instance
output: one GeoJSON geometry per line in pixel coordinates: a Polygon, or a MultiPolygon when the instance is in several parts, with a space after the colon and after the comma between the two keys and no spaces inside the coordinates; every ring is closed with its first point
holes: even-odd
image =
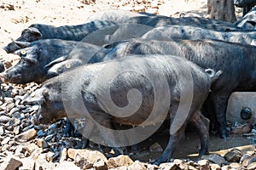
{"type": "Polygon", "coordinates": [[[256,89],[256,48],[251,45],[218,40],[142,40],[115,42],[106,58],[120,58],[129,54],[171,54],[193,61],[202,68],[224,71],[205,103],[205,114],[212,129],[226,138],[226,107],[233,91],[256,89]]]}

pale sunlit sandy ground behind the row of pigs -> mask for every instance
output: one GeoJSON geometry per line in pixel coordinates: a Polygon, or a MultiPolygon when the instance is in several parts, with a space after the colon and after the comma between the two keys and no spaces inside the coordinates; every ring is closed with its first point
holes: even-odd
{"type": "MultiPolygon", "coordinates": [[[[11,38],[20,37],[20,32],[32,24],[53,26],[83,24],[91,14],[108,8],[122,8],[133,11],[163,14],[178,17],[180,13],[207,13],[207,0],[0,0],[0,59],[15,61],[14,54],[2,49],[11,38]]],[[[241,8],[236,8],[241,18],[241,8]]]]}

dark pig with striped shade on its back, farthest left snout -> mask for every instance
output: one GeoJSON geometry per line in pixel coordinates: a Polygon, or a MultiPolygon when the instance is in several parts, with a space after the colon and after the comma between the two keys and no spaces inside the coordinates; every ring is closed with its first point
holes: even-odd
{"type": "MultiPolygon", "coordinates": [[[[105,28],[106,34],[113,34],[117,29],[115,24],[108,20],[94,20],[83,25],[77,26],[49,26],[44,24],[32,24],[21,32],[21,36],[15,41],[19,42],[34,42],[39,39],[62,39],[81,41],[90,33],[105,28]],[[109,29],[107,29],[109,28],[109,29]]],[[[7,53],[14,53],[19,48],[24,48],[16,42],[10,42],[3,49],[7,53]]]]}

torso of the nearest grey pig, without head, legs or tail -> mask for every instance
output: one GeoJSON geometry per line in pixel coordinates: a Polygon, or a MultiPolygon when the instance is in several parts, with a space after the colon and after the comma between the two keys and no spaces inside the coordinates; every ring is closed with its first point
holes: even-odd
{"type": "Polygon", "coordinates": [[[142,124],[155,111],[157,115],[147,123],[162,122],[170,106],[180,102],[199,107],[211,86],[210,77],[200,67],[171,55],[134,55],[82,66],[65,73],[63,79],[65,99],[72,99],[68,101],[73,105],[70,112],[85,114],[73,97],[82,94],[87,111],[103,112],[114,122],[128,125],[142,124]]]}

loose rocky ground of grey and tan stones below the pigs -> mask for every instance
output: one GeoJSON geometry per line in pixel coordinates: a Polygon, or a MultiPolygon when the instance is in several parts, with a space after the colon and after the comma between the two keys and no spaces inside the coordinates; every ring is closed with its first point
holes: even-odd
{"type": "MultiPolygon", "coordinates": [[[[0,169],[255,169],[256,150],[254,145],[231,147],[222,153],[212,153],[190,161],[189,158],[172,159],[171,162],[154,166],[150,164],[162,152],[162,146],[153,141],[139,152],[126,150],[125,156],[107,158],[113,153],[108,148],[90,143],[87,150],[81,149],[81,137],[62,137],[65,120],[51,125],[34,126],[30,117],[38,111],[38,105],[23,105],[22,100],[38,84],[2,84],[0,106],[0,169]],[[140,156],[136,161],[136,157],[140,156]],[[149,158],[149,157],[150,158],[149,158]],[[146,158],[147,157],[147,158],[146,158]]],[[[166,131],[162,135],[168,135],[166,131]]],[[[192,132],[188,132],[192,133],[192,132]]],[[[255,144],[256,127],[251,123],[230,124],[230,140],[243,135],[255,144]]],[[[192,135],[195,135],[192,133],[192,135]]],[[[157,138],[151,138],[154,140],[157,138]]],[[[165,138],[162,138],[165,139],[165,138]]],[[[187,139],[193,147],[194,139],[187,139]],[[190,140],[190,141],[189,141],[190,140]]],[[[218,139],[223,140],[223,139],[218,139]]],[[[150,142],[148,142],[150,143],[150,142]]],[[[220,144],[220,143],[219,143],[220,144]]],[[[226,144],[229,146],[229,144],[226,144]]],[[[230,144],[231,146],[231,144],[230,144]]],[[[180,145],[177,150],[182,150],[180,145]]],[[[188,151],[188,150],[186,150],[188,151]]]]}

